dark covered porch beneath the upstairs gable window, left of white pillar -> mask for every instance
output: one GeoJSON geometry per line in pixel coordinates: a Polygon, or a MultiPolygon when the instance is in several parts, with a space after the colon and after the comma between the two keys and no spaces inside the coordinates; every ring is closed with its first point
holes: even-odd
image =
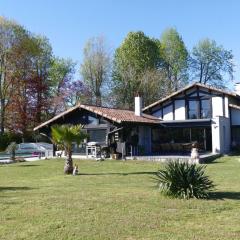
{"type": "Polygon", "coordinates": [[[189,155],[192,144],[200,153],[212,151],[211,119],[164,121],[152,129],[152,153],[189,155]]]}

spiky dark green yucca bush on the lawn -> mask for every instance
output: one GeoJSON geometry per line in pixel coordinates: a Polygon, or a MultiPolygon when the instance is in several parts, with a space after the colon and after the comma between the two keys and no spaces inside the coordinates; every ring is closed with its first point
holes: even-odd
{"type": "Polygon", "coordinates": [[[204,165],[170,161],[156,173],[157,184],[167,195],[179,198],[207,198],[214,188],[204,165]]]}

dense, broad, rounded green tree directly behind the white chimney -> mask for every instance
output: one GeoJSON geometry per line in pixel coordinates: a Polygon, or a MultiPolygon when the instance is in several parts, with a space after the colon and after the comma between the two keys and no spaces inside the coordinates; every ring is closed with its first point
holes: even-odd
{"type": "Polygon", "coordinates": [[[116,49],[112,78],[117,106],[133,108],[135,94],[142,92],[141,75],[160,65],[159,44],[159,41],[149,38],[143,32],[130,32],[116,49]]]}

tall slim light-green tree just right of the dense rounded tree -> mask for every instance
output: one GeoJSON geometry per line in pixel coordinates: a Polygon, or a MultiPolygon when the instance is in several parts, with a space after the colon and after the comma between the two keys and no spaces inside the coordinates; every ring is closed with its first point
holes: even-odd
{"type": "Polygon", "coordinates": [[[188,51],[176,29],[169,28],[161,36],[160,51],[169,92],[176,91],[188,81],[188,51]]]}

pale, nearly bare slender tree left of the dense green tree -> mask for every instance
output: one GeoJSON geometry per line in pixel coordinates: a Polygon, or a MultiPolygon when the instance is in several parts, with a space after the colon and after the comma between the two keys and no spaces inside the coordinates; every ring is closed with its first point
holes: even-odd
{"type": "Polygon", "coordinates": [[[111,70],[111,55],[105,39],[103,37],[89,39],[83,54],[80,72],[92,92],[93,101],[97,106],[101,106],[102,94],[108,87],[111,70]]]}

